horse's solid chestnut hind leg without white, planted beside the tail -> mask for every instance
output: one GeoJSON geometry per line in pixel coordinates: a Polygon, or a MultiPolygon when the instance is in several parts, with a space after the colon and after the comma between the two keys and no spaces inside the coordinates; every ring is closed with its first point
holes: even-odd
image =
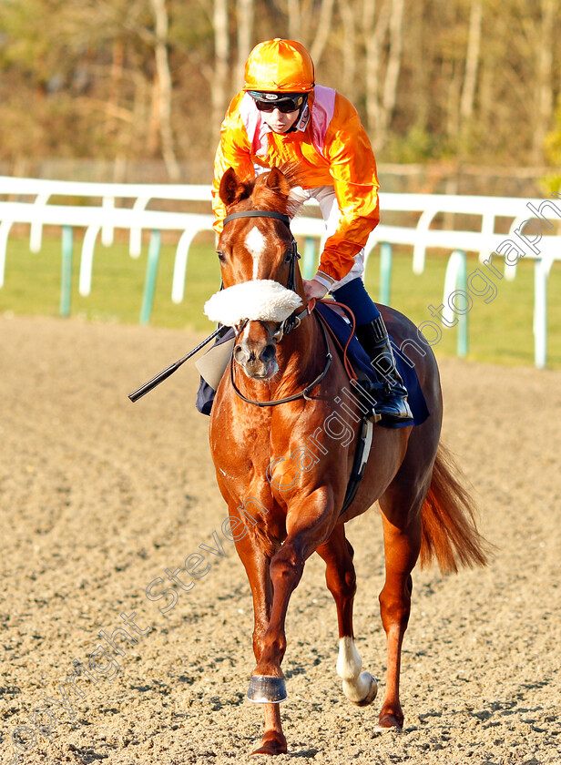
{"type": "Polygon", "coordinates": [[[421,548],[421,517],[418,513],[407,513],[407,522],[402,524],[389,512],[390,507],[383,500],[380,507],[386,569],[385,583],[380,593],[380,613],[388,641],[388,663],[379,725],[383,729],[401,729],[403,710],[399,700],[399,678],[402,643],[411,611],[411,572],[421,548]]]}

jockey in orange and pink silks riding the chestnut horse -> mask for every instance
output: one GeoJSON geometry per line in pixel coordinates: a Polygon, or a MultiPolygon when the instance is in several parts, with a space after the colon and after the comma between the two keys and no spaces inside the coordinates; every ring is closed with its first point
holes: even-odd
{"type": "Polygon", "coordinates": [[[284,165],[298,168],[301,186],[291,189],[291,200],[317,199],[328,237],[317,273],[304,280],[306,298],[331,291],[351,309],[357,337],[385,380],[376,412],[390,422],[412,418],[388,332],[362,281],[364,245],[380,220],[370,141],[351,102],[315,85],[304,46],[277,38],[251,51],[244,87],[222,123],[212,192],[217,233],[226,216],[219,199],[224,172],[231,167],[245,179],[284,165]]]}

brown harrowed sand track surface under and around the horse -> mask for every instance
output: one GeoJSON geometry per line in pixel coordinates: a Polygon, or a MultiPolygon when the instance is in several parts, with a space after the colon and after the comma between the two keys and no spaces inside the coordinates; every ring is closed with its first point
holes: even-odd
{"type": "MultiPolygon", "coordinates": [[[[197,373],[188,363],[138,403],[127,398],[199,340],[0,318],[2,763],[18,751],[30,765],[270,761],[248,757],[262,725],[244,700],[250,587],[220,529],[197,373]],[[216,551],[205,552],[208,574],[162,614],[174,596],[150,601],[147,587],[169,584],[165,570],[201,544],[216,551]],[[119,639],[121,615],[151,631],[119,639]],[[72,676],[92,654],[97,672],[72,676]]],[[[377,509],[347,527],[357,646],[381,681],[370,708],[342,695],[335,609],[312,556],[288,617],[290,754],[279,764],[561,763],[561,372],[452,359],[441,372],[444,440],[474,486],[495,561],[458,576],[415,569],[405,725],[378,736],[377,509]]]]}

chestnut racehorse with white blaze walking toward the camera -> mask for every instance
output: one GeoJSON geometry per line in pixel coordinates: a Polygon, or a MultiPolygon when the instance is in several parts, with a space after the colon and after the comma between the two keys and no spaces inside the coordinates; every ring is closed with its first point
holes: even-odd
{"type": "Polygon", "coordinates": [[[225,289],[211,299],[219,301],[214,316],[207,311],[236,331],[230,370],[212,407],[209,441],[250,580],[257,666],[248,696],[264,704],[265,732],[254,753],[265,754],[286,751],[278,704],[286,697],[280,668],[284,624],[291,593],[314,552],[325,561],[337,607],[343,691],[361,706],[376,696],[376,680],[361,672],[354,645],[356,577],[345,538],[348,521],[378,501],[385,551],[380,610],[388,650],[378,729],[403,726],[400,659],[417,559],[435,558],[444,571],[483,566],[486,560],[470,498],[439,446],[443,408],[433,353],[419,344],[411,321],[384,306],[380,310],[394,342],[404,348],[409,340],[419,349],[415,369],[430,416],[415,427],[373,426],[362,483],[342,513],[356,448],[355,438],[343,438],[342,432],[356,435],[360,402],[346,396],[342,403],[340,394],[349,390],[343,364],[313,311],[301,310],[306,299],[287,217],[290,191],[278,168],[247,181],[232,168],[226,171],[219,195],[227,218],[218,246],[225,289]],[[271,308],[278,294],[281,303],[287,299],[280,312],[271,308]]]}

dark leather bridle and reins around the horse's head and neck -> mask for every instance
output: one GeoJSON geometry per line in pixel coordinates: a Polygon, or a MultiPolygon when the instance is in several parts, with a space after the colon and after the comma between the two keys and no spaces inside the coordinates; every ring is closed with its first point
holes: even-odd
{"type": "MultiPolygon", "coordinates": [[[[223,223],[226,225],[230,220],[234,220],[237,218],[274,218],[277,220],[281,220],[288,228],[290,234],[291,234],[291,260],[289,262],[289,278],[287,280],[287,289],[291,291],[296,291],[296,261],[300,260],[300,253],[298,252],[298,245],[296,244],[296,240],[294,239],[294,235],[291,231],[291,219],[288,215],[284,215],[282,212],[276,212],[272,209],[247,209],[247,210],[240,210],[239,212],[232,212],[230,215],[227,215],[224,219],[223,223]]],[[[291,313],[291,315],[282,321],[280,324],[280,329],[278,330],[279,333],[279,339],[277,340],[277,343],[279,343],[283,336],[285,334],[290,334],[292,331],[296,330],[300,324],[302,319],[304,319],[306,316],[308,316],[311,311],[313,311],[313,306],[315,304],[315,301],[309,305],[306,306],[306,308],[303,309],[300,313],[294,314],[291,313]]],[[[248,324],[247,319],[244,319],[236,328],[236,337],[240,337],[241,332],[244,330],[245,326],[248,324]]],[[[325,346],[327,348],[326,353],[326,362],[325,367],[323,369],[323,372],[321,372],[313,382],[310,383],[310,385],[307,385],[300,393],[294,393],[291,396],[286,396],[286,398],[277,399],[276,401],[253,401],[252,399],[246,398],[246,396],[241,393],[240,389],[234,382],[234,357],[230,358],[230,382],[232,383],[232,387],[234,391],[240,396],[240,399],[242,401],[245,401],[246,403],[253,403],[256,406],[276,406],[279,403],[287,403],[289,401],[295,401],[296,399],[299,399],[303,397],[306,399],[306,401],[311,401],[310,393],[312,388],[314,388],[327,374],[330,366],[331,366],[331,351],[329,348],[329,341],[327,338],[327,332],[325,331],[325,328],[320,322],[321,330],[323,331],[323,339],[325,341],[325,346]]],[[[276,334],[276,333],[275,333],[276,334]]]]}

